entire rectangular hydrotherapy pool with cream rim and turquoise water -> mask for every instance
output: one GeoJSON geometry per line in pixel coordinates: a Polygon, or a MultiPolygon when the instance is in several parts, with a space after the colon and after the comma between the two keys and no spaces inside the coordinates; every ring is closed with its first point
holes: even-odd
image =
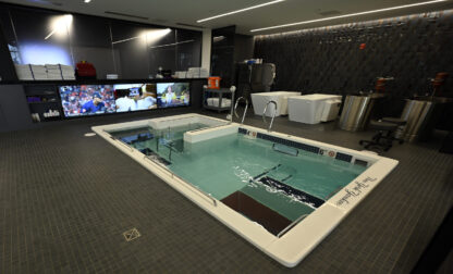
{"type": "Polygon", "coordinates": [[[198,114],[93,129],[286,266],[397,164],[198,114]]]}

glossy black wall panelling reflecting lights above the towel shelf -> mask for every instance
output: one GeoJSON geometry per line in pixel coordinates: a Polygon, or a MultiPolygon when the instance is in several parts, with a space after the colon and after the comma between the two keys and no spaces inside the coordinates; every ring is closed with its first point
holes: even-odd
{"type": "MultiPolygon", "coordinates": [[[[4,34],[0,50],[7,51],[0,51],[0,58],[16,64],[74,66],[87,61],[99,79],[113,73],[143,79],[155,77],[159,66],[174,72],[201,63],[201,32],[196,30],[3,3],[0,25],[4,34]]],[[[12,64],[9,71],[14,72],[12,64]]],[[[0,76],[16,80],[15,74],[2,70],[0,76]]]]}

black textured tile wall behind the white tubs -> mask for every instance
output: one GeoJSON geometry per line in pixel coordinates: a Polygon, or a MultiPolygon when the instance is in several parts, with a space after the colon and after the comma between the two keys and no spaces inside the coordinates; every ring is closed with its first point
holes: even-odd
{"type": "Polygon", "coordinates": [[[452,90],[453,11],[257,36],[255,58],[277,65],[274,90],[350,94],[393,76],[388,91],[409,97],[428,91],[428,77],[450,74],[452,90]],[[365,43],[365,49],[359,49],[365,43]]]}

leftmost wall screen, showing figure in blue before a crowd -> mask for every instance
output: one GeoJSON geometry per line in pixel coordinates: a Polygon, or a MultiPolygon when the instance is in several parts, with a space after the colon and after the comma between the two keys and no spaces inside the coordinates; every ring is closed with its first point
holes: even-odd
{"type": "Polygon", "coordinates": [[[114,113],[117,110],[112,85],[60,86],[65,117],[114,113]]]}

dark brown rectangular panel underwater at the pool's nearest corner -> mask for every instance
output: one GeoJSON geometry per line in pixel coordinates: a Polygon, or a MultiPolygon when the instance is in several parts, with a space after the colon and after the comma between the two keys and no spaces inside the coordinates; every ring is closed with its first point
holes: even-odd
{"type": "Polygon", "coordinates": [[[262,225],[276,236],[292,223],[291,220],[280,215],[277,211],[271,210],[241,191],[231,194],[223,198],[221,202],[249,220],[262,225]]]}

